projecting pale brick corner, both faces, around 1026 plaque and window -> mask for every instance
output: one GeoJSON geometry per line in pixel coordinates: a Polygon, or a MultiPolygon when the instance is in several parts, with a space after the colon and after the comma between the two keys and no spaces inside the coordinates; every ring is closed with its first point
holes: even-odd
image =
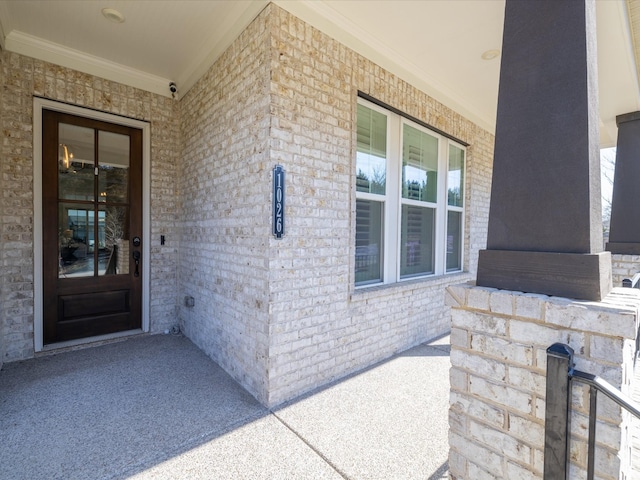
{"type": "Polygon", "coordinates": [[[354,120],[361,90],[470,144],[465,269],[486,243],[493,137],[275,5],[181,102],[184,329],[276,405],[449,330],[458,274],[354,290],[354,120]],[[286,234],[271,235],[271,169],[286,234]]]}

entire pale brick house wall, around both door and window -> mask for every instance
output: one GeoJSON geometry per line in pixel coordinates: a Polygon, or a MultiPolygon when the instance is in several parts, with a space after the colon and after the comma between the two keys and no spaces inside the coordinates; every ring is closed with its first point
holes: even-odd
{"type": "Polygon", "coordinates": [[[275,5],[179,101],[17,54],[0,58],[6,360],[33,356],[34,94],[151,123],[152,331],[177,315],[265,404],[449,330],[443,290],[473,277],[486,243],[493,137],[423,92],[275,5]],[[468,273],[354,289],[359,90],[470,144],[468,273]],[[276,163],[287,172],[283,240],[271,235],[276,163]]]}

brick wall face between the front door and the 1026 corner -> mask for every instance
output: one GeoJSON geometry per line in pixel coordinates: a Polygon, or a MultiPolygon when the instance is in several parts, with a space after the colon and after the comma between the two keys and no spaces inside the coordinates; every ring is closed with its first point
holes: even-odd
{"type": "MultiPolygon", "coordinates": [[[[269,36],[255,20],[184,96],[179,180],[179,306],[185,333],[266,401],[269,36]]],[[[277,140],[272,140],[276,142],[277,140]]]]}

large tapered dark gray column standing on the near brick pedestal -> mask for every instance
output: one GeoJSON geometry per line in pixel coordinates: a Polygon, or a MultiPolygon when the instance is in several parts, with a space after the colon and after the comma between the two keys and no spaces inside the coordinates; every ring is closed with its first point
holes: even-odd
{"type": "Polygon", "coordinates": [[[487,249],[477,284],[600,300],[593,0],[507,0],[487,249]]]}

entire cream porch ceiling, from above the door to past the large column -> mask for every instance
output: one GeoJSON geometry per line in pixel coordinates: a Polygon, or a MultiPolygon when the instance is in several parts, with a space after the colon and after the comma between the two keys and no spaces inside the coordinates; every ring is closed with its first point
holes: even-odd
{"type": "MultiPolygon", "coordinates": [[[[0,0],[0,46],[170,95],[184,94],[268,0],[0,0]],[[101,9],[120,11],[121,24],[101,9]]],[[[490,131],[504,0],[274,0],[490,131]]],[[[640,110],[640,0],[597,0],[602,146],[640,110]]]]}

